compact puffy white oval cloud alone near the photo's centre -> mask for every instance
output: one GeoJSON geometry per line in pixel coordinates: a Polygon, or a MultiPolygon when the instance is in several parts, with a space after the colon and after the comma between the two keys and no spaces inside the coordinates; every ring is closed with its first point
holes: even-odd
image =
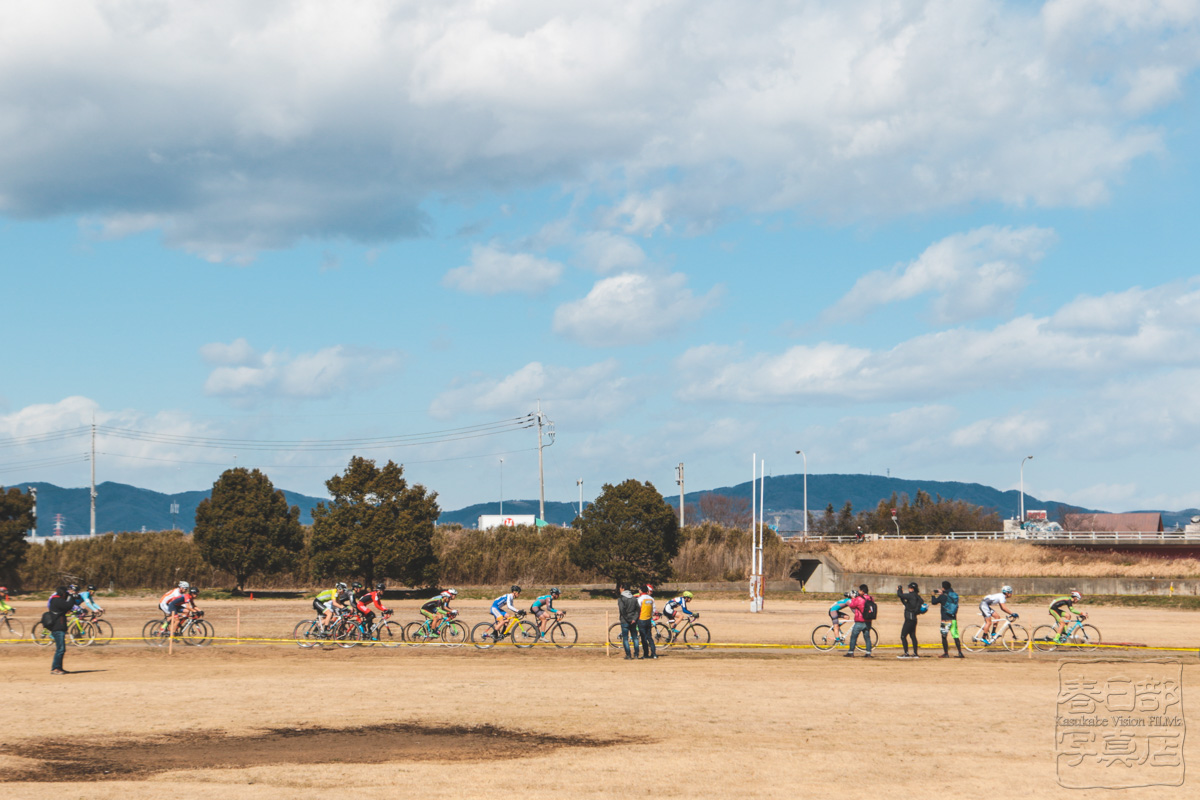
{"type": "Polygon", "coordinates": [[[682,273],[654,277],[622,272],[596,282],[588,295],[554,311],[554,332],[592,347],[641,344],[667,336],[712,308],[715,287],[697,297],[682,273]]]}

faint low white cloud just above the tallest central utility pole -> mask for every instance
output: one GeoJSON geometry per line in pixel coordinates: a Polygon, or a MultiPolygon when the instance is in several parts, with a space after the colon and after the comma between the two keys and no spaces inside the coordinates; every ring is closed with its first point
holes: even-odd
{"type": "Polygon", "coordinates": [[[578,368],[532,361],[503,378],[475,378],[434,398],[430,415],[448,419],[461,413],[526,414],[540,399],[556,408],[556,416],[593,423],[620,413],[636,397],[632,381],[620,365],[607,359],[578,368]]]}

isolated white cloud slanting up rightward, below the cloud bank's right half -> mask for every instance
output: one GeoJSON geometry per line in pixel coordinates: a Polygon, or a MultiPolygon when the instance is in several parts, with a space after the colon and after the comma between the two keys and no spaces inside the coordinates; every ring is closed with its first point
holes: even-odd
{"type": "Polygon", "coordinates": [[[931,311],[938,323],[1001,314],[1025,287],[1026,265],[1039,260],[1052,240],[1054,231],[1034,227],[988,225],[947,236],[908,264],[868,272],[824,317],[863,317],[923,294],[935,295],[931,311]]]}

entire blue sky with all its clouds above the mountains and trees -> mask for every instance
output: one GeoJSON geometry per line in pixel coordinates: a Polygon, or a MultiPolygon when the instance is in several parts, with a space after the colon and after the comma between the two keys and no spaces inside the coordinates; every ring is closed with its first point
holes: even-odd
{"type": "Polygon", "coordinates": [[[547,499],[1200,506],[1198,61],[1188,0],[7,5],[0,483],[95,420],[97,481],[535,498],[446,432],[540,401],[547,499]]]}

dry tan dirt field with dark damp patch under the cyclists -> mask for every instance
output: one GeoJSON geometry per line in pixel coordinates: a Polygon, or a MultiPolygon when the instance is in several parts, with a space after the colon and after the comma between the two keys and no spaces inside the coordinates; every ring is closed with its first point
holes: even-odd
{"type": "MultiPolygon", "coordinates": [[[[32,603],[17,603],[26,627],[32,603]]],[[[106,600],[116,636],[156,615],[152,599],[106,600]]],[[[397,619],[415,619],[415,604],[397,619]]],[[[485,603],[466,601],[481,621],[485,603]]],[[[697,603],[715,643],[803,644],[824,603],[697,603]]],[[[217,636],[286,638],[302,601],[202,603],[217,636]]],[[[811,649],[666,650],[606,656],[611,601],[568,601],[581,646],[300,650],[287,643],[138,642],[50,652],[0,644],[0,783],[8,799],[328,798],[1082,798],[1058,784],[1061,663],[1169,657],[1188,687],[1196,650],[1088,656],[979,654],[966,660],[848,660],[811,649]],[[607,614],[607,616],[606,616],[607,614]],[[1002,778],[1002,780],[997,780],[1002,778]]],[[[1028,627],[1040,606],[1016,609],[1028,627]]],[[[964,606],[968,621],[973,607],[964,606]]],[[[1195,612],[1097,608],[1105,640],[1196,646],[1195,612]]],[[[881,606],[882,644],[899,610],[881,606]]],[[[934,644],[932,615],[920,636],[934,644]]],[[[928,655],[941,651],[940,644],[928,655]]],[[[1104,669],[1105,667],[1098,667],[1104,669]]],[[[1200,714],[1195,715],[1200,724],[1200,714]]],[[[1200,769],[1200,738],[1184,759],[1200,769]]],[[[1190,796],[1183,787],[1124,796],[1190,796]]]]}

